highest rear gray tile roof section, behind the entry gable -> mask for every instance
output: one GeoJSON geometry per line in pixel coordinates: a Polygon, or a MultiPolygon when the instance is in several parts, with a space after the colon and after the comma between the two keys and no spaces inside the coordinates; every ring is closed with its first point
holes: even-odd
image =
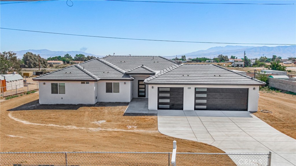
{"type": "Polygon", "coordinates": [[[154,71],[177,65],[175,62],[161,56],[106,56],[103,59],[126,71],[141,65],[145,65],[154,71]]]}

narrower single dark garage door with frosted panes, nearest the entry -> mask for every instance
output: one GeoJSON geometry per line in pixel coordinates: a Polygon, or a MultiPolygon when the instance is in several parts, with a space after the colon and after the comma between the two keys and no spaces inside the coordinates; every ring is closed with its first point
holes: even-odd
{"type": "Polygon", "coordinates": [[[157,109],[183,110],[183,88],[158,87],[157,109]]]}

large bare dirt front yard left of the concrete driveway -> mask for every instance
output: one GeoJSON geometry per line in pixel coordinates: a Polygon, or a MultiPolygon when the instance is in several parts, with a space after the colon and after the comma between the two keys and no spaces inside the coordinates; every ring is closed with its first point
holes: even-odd
{"type": "Polygon", "coordinates": [[[1,152],[170,152],[176,140],[178,152],[224,153],[208,144],[160,134],[157,116],[122,116],[127,103],[60,110],[37,103],[38,93],[1,102],[1,152]],[[24,103],[31,109],[22,110],[24,103]]]}

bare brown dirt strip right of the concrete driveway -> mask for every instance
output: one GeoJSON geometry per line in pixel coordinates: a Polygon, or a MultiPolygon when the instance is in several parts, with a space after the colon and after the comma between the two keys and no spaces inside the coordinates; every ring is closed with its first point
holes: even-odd
{"type": "Polygon", "coordinates": [[[255,116],[282,133],[296,139],[296,96],[281,92],[260,91],[259,107],[272,113],[258,112],[255,116]]]}

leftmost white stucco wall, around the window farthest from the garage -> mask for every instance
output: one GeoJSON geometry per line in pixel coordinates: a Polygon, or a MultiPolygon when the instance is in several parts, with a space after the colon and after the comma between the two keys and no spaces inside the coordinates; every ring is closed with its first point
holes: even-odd
{"type": "Polygon", "coordinates": [[[39,81],[39,103],[95,104],[97,93],[95,83],[81,84],[80,81],[39,81]],[[51,83],[65,83],[65,94],[51,94],[51,83]]]}

